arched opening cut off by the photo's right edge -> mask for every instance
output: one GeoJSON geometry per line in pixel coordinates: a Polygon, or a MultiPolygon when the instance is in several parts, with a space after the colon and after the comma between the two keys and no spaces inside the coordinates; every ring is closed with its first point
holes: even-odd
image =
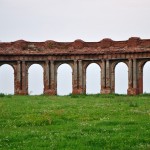
{"type": "Polygon", "coordinates": [[[150,93],[150,61],[143,68],[143,93],[150,93]]]}

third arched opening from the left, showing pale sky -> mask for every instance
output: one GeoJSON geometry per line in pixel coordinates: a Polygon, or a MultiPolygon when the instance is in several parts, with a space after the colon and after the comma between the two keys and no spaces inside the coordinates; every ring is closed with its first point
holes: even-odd
{"type": "Polygon", "coordinates": [[[57,94],[69,95],[72,93],[72,68],[62,64],[57,69],[57,94]]]}

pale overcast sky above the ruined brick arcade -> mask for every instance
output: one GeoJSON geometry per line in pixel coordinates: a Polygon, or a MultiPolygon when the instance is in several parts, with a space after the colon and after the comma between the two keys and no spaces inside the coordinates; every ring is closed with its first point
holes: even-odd
{"type": "Polygon", "coordinates": [[[150,0],[0,0],[2,42],[150,39],[149,27],[150,0]]]}

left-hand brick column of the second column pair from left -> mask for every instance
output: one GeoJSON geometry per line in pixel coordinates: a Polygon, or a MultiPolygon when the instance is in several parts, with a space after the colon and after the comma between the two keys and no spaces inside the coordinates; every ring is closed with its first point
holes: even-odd
{"type": "Polygon", "coordinates": [[[50,90],[50,66],[49,61],[44,64],[44,94],[49,94],[50,90]]]}

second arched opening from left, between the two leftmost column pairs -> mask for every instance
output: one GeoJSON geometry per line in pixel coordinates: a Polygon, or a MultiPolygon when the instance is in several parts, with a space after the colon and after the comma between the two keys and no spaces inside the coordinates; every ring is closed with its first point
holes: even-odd
{"type": "Polygon", "coordinates": [[[33,64],[28,70],[28,94],[43,94],[43,67],[39,64],[33,64]]]}

